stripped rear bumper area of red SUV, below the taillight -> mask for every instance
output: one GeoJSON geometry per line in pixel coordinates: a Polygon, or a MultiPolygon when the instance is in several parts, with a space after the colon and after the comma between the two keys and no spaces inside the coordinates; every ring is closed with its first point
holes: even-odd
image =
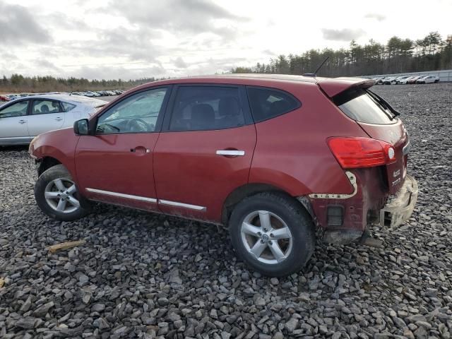
{"type": "Polygon", "coordinates": [[[417,201],[417,182],[413,177],[407,175],[397,193],[386,198],[387,191],[374,180],[375,172],[355,173],[359,179],[353,194],[314,194],[309,201],[299,198],[302,203],[309,203],[314,222],[324,230],[324,242],[347,244],[361,238],[369,225],[397,227],[412,215],[417,201]],[[337,215],[331,213],[333,208],[337,215]]]}

